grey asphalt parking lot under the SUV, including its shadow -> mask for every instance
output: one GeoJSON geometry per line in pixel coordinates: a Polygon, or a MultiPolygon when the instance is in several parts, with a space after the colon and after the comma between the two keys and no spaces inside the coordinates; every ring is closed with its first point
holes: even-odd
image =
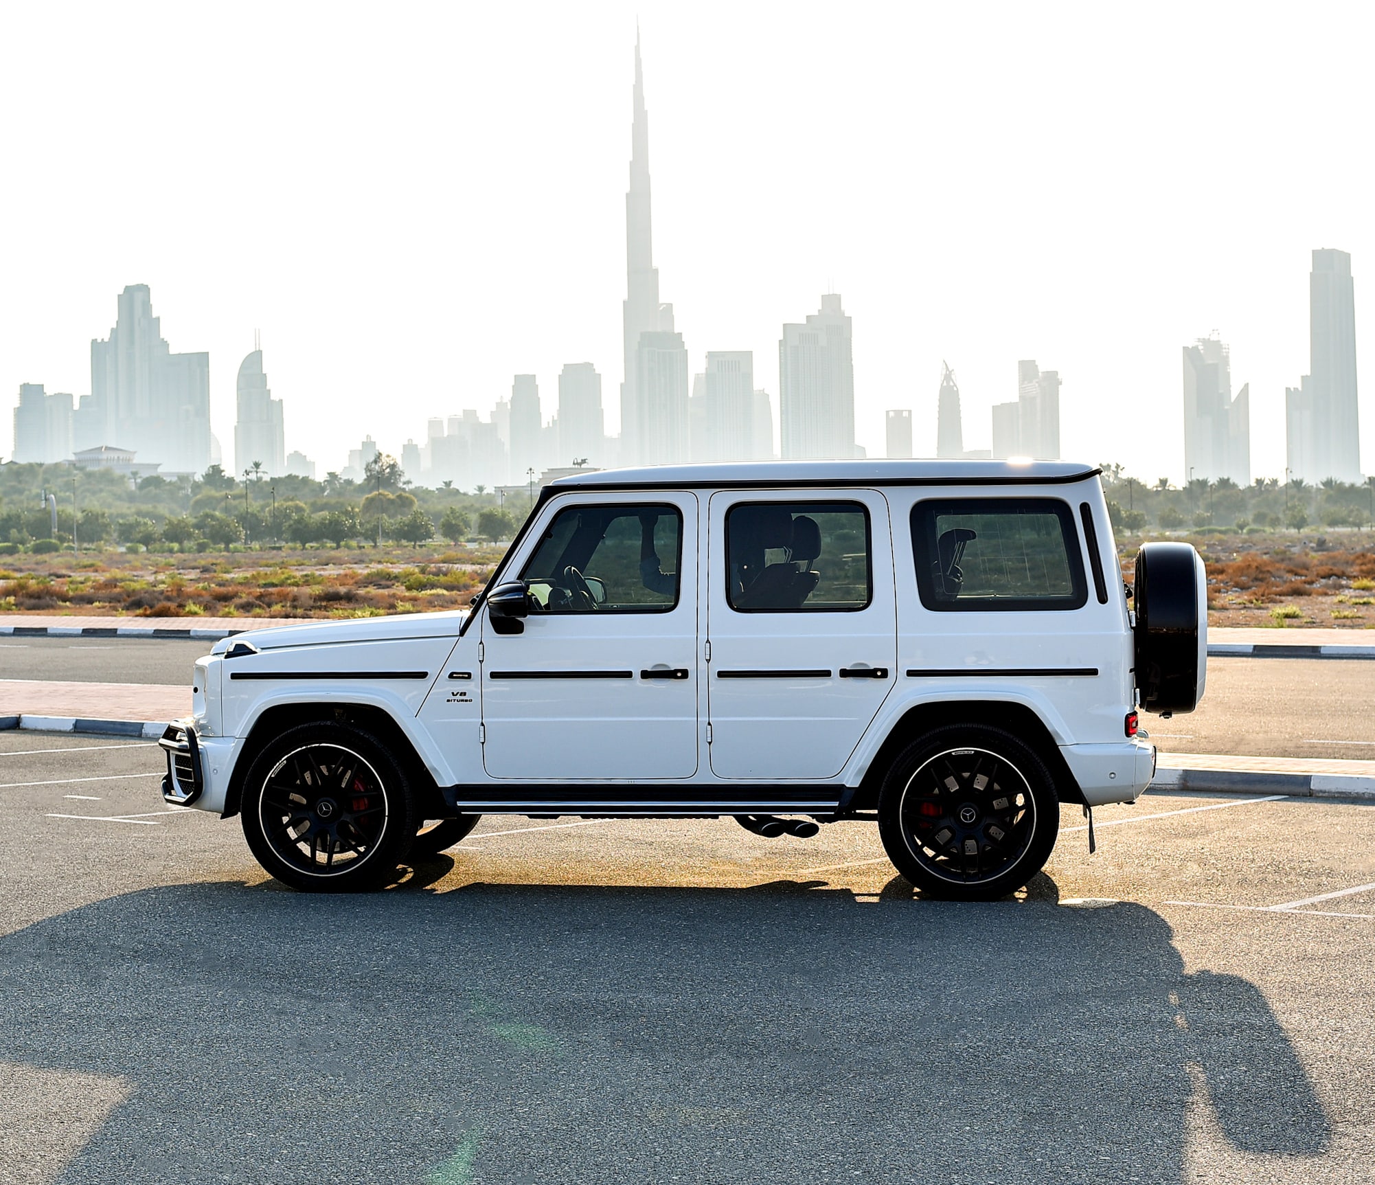
{"type": "Polygon", "coordinates": [[[976,906],[730,821],[308,896],[160,770],[0,734],[0,1181],[1375,1178],[1375,807],[1066,810],[976,906]]]}

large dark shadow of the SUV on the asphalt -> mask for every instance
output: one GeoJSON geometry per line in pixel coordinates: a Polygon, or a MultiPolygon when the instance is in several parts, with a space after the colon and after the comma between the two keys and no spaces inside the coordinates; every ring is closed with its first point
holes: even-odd
{"type": "Polygon", "coordinates": [[[1174,1182],[1191,1074],[1330,1147],[1254,986],[1038,885],[154,888],[0,939],[0,1061],[128,1085],[70,1182],[1174,1182]]]}

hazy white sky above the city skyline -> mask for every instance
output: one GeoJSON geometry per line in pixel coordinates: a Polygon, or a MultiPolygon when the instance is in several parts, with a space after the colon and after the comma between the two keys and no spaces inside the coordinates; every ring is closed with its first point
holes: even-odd
{"type": "Polygon", "coordinates": [[[1063,379],[1063,451],[1182,477],[1180,348],[1251,384],[1253,469],[1284,467],[1313,247],[1356,275],[1375,472],[1375,110],[1363,5],[7,4],[0,8],[0,452],[18,384],[91,389],[116,294],[234,377],[263,333],[287,448],[342,466],[484,414],[562,363],[622,379],[635,21],[654,257],[692,368],[828,289],[854,318],[859,441],[940,362],[965,447],[1063,379]]]}

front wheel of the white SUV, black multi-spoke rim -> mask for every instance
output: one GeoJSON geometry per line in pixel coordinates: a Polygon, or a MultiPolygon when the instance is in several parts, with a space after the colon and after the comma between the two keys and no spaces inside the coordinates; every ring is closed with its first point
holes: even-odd
{"type": "Polygon", "coordinates": [[[415,795],[386,745],[333,720],[298,724],[263,748],[243,782],[242,815],[258,863],[307,892],[384,884],[418,825],[415,795]]]}

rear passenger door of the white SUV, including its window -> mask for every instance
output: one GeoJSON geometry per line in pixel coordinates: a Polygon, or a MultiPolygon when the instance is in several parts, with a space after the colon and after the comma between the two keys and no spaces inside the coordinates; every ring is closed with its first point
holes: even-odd
{"type": "Polygon", "coordinates": [[[711,771],[835,778],[898,675],[892,536],[877,491],[714,494],[711,771]]]}

